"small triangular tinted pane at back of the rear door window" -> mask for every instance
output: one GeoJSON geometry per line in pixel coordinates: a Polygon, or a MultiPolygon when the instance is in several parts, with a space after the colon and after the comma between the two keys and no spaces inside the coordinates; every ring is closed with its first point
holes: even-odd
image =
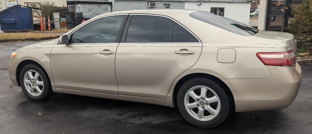
{"type": "Polygon", "coordinates": [[[175,23],[170,42],[199,42],[199,41],[185,28],[175,23]]]}

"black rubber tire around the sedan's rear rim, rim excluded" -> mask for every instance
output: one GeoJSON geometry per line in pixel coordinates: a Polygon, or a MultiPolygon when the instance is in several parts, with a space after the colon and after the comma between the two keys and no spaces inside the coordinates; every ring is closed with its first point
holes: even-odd
{"type": "Polygon", "coordinates": [[[179,89],[177,96],[177,105],[181,115],[190,124],[201,127],[201,128],[213,128],[219,126],[225,121],[230,112],[230,101],[227,93],[222,89],[222,87],[211,79],[207,78],[193,78],[186,81],[179,89]],[[192,117],[184,106],[184,96],[189,89],[194,86],[206,86],[212,89],[219,97],[221,107],[217,116],[208,121],[200,121],[192,117]]]}

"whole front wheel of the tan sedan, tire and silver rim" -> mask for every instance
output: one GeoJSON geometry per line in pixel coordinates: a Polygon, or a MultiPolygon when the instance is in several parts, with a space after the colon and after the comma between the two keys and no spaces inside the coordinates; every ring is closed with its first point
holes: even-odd
{"type": "Polygon", "coordinates": [[[40,101],[53,94],[46,72],[35,64],[23,67],[20,73],[20,84],[23,92],[32,100],[40,101]]]}

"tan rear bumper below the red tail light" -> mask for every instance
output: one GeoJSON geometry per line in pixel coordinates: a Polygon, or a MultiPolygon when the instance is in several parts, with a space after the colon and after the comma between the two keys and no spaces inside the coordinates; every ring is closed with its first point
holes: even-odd
{"type": "Polygon", "coordinates": [[[231,89],[236,112],[288,107],[296,98],[302,81],[300,66],[266,66],[270,79],[222,79],[231,89]]]}

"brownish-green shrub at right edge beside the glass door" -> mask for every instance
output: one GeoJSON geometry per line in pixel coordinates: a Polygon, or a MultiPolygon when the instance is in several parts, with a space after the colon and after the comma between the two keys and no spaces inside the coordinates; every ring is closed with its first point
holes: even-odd
{"type": "Polygon", "coordinates": [[[291,9],[294,19],[289,19],[286,27],[298,41],[312,41],[312,0],[306,0],[303,5],[291,9]]]}

